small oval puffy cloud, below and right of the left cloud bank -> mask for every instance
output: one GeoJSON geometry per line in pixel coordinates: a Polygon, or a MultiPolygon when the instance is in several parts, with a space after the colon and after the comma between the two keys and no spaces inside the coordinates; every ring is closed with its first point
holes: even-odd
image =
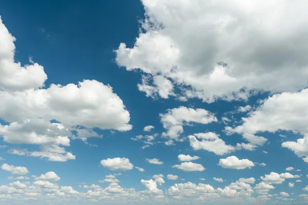
{"type": "Polygon", "coordinates": [[[113,158],[113,159],[103,159],[101,164],[107,167],[109,170],[132,170],[133,165],[129,162],[129,159],[123,158],[113,158]]]}

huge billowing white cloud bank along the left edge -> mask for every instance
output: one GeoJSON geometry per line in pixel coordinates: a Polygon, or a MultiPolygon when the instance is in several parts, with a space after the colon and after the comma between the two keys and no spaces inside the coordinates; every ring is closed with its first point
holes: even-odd
{"type": "MultiPolygon", "coordinates": [[[[15,63],[15,38],[0,18],[0,136],[14,144],[70,145],[69,137],[84,141],[102,137],[92,128],[128,131],[130,115],[123,101],[110,85],[95,80],[78,84],[51,84],[43,88],[47,75],[44,68],[15,63]],[[53,121],[53,122],[51,122],[53,121]],[[73,133],[71,133],[73,132],[73,133]]],[[[29,156],[51,161],[75,157],[65,152],[28,152],[29,156]]]]}

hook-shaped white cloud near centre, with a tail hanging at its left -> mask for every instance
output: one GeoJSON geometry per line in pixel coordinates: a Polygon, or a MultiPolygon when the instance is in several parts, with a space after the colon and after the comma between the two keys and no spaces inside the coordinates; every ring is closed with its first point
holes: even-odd
{"type": "Polygon", "coordinates": [[[167,113],[160,114],[160,117],[163,127],[167,129],[167,132],[163,132],[162,136],[175,140],[183,133],[183,125],[189,123],[208,124],[218,121],[214,114],[205,109],[184,106],[168,109],[167,113]]]}

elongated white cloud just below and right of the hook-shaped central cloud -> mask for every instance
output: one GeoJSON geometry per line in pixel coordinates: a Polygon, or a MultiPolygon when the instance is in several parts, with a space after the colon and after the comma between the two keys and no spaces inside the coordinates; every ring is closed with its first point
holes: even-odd
{"type": "Polygon", "coordinates": [[[198,133],[188,136],[188,139],[190,146],[194,148],[194,150],[202,149],[208,152],[213,152],[216,155],[225,155],[236,150],[235,147],[226,145],[216,133],[198,133]],[[201,139],[201,141],[199,141],[196,137],[201,139]]]}

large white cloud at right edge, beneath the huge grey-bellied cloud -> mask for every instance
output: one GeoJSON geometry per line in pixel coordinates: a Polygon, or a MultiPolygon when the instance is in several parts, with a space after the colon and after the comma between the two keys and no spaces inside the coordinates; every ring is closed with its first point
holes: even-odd
{"type": "Polygon", "coordinates": [[[242,125],[235,128],[226,127],[225,131],[228,134],[242,134],[247,141],[258,145],[267,141],[267,139],[255,135],[259,132],[298,132],[304,136],[302,139],[298,139],[296,142],[283,142],[282,147],[292,150],[308,162],[308,146],[306,144],[308,136],[306,113],[308,113],[308,109],[305,106],[307,103],[308,89],[273,95],[265,99],[255,111],[249,113],[247,118],[242,118],[242,125]]]}

